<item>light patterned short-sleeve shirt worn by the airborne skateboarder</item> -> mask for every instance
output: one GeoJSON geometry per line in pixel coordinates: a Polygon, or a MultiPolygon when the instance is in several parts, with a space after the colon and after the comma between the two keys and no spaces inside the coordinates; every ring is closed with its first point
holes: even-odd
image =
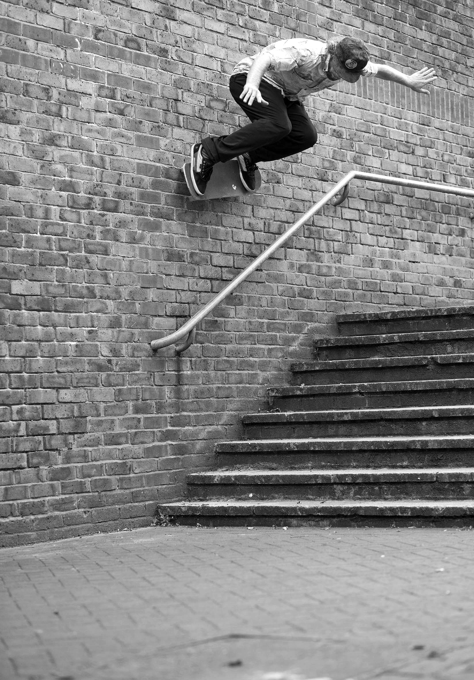
{"type": "MultiPolygon", "coordinates": [[[[292,38],[278,40],[259,54],[270,56],[270,68],[263,75],[266,80],[277,87],[288,99],[302,101],[314,92],[320,92],[338,84],[341,79],[331,80],[327,77],[327,44],[319,40],[305,38],[292,38]]],[[[248,73],[255,58],[259,56],[247,56],[234,68],[232,75],[236,73],[248,73]]],[[[361,75],[377,73],[376,64],[367,63],[361,75]]]]}

